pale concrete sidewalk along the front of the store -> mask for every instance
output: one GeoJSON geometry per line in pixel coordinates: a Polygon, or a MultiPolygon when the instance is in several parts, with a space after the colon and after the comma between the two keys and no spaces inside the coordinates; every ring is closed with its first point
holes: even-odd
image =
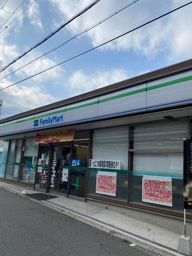
{"type": "MultiPolygon", "coordinates": [[[[0,187],[9,189],[15,193],[20,193],[23,190],[26,190],[27,194],[42,193],[32,189],[31,187],[2,181],[0,181],[0,187]]],[[[108,227],[115,232],[144,242],[145,244],[151,245],[160,250],[164,250],[178,256],[181,255],[180,253],[177,253],[180,234],[104,209],[94,204],[87,204],[86,202],[81,202],[64,196],[55,196],[57,196],[57,198],[52,198],[42,202],[47,204],[47,206],[52,205],[60,209],[64,209],[65,211],[72,212],[82,218],[86,218],[104,227],[108,227]]]]}

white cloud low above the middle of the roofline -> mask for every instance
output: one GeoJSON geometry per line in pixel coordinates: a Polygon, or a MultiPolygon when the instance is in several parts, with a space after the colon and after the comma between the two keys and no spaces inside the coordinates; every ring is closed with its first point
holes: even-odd
{"type": "Polygon", "coordinates": [[[77,70],[69,78],[70,91],[74,95],[85,93],[97,88],[113,84],[128,79],[125,70],[112,69],[108,71],[98,71],[94,74],[86,74],[82,70],[77,70]]]}

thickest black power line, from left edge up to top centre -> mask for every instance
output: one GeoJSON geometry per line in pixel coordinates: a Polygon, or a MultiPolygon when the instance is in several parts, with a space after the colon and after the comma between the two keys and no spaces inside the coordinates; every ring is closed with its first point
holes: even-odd
{"type": "MultiPolygon", "coordinates": [[[[23,0],[24,1],[24,0],[23,0]]],[[[38,47],[40,44],[43,44],[45,41],[47,41],[49,38],[51,38],[53,35],[55,35],[58,31],[60,31],[62,28],[64,28],[64,26],[67,26],[67,24],[69,24],[72,20],[75,20],[77,17],[79,17],[80,15],[82,15],[84,12],[87,12],[87,10],[89,10],[91,7],[93,7],[94,5],[96,5],[96,3],[98,3],[100,0],[94,0],[92,3],[90,3],[88,6],[86,6],[84,9],[82,9],[80,12],[78,12],[76,15],[74,15],[73,17],[71,17],[69,20],[67,20],[65,23],[63,23],[61,26],[59,26],[57,29],[55,29],[54,31],[52,31],[51,33],[49,33],[49,35],[47,35],[46,37],[44,37],[43,39],[41,39],[40,41],[38,41],[38,43],[36,43],[35,45],[33,45],[32,47],[30,47],[29,49],[27,49],[25,52],[23,52],[21,55],[17,56],[17,58],[15,58],[14,60],[12,60],[11,62],[9,62],[8,64],[6,64],[4,67],[2,67],[0,69],[0,73],[5,70],[7,67],[9,67],[11,64],[13,64],[14,62],[18,61],[20,58],[22,58],[24,55],[26,55],[28,52],[30,52],[32,49],[35,49],[36,47],[38,47]]],[[[3,24],[4,25],[4,24],[3,24]]],[[[1,26],[2,27],[2,26],[1,26]]],[[[1,28],[0,27],[0,28],[1,28]]]]}

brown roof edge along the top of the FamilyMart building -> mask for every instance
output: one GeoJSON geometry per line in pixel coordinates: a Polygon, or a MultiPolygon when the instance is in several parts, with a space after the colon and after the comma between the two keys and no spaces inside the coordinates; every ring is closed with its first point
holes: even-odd
{"type": "Polygon", "coordinates": [[[126,79],[124,81],[119,81],[115,84],[110,84],[105,87],[102,87],[102,88],[99,88],[99,89],[96,89],[96,90],[93,90],[93,91],[90,91],[87,93],[80,94],[78,96],[74,96],[74,97],[71,97],[68,99],[64,99],[64,100],[61,100],[58,102],[54,102],[54,103],[45,105],[43,107],[34,108],[32,110],[22,112],[22,113],[14,115],[14,116],[10,116],[5,119],[2,119],[2,120],[0,120],[0,123],[9,122],[14,119],[19,119],[22,117],[30,116],[30,115],[33,115],[36,113],[40,113],[42,111],[49,111],[54,108],[62,107],[64,105],[73,104],[73,103],[79,102],[81,100],[90,99],[90,98],[97,97],[97,96],[100,96],[100,95],[103,95],[106,93],[113,92],[115,90],[123,89],[126,87],[131,87],[131,86],[134,86],[134,85],[137,85],[137,84],[140,84],[143,82],[148,82],[148,81],[151,81],[154,79],[160,79],[164,76],[174,75],[175,73],[181,73],[181,72],[184,72],[187,70],[192,70],[192,59],[182,61],[180,63],[173,64],[168,67],[163,67],[161,69],[154,70],[149,73],[142,74],[140,76],[135,76],[133,78],[126,79]]]}

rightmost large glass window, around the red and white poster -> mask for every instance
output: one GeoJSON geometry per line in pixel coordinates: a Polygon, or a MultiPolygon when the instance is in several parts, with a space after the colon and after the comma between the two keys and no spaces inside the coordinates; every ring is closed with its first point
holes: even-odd
{"type": "Polygon", "coordinates": [[[187,120],[130,127],[129,202],[183,210],[183,138],[187,120]],[[172,207],[142,201],[142,179],[172,180],[172,207]]]}

